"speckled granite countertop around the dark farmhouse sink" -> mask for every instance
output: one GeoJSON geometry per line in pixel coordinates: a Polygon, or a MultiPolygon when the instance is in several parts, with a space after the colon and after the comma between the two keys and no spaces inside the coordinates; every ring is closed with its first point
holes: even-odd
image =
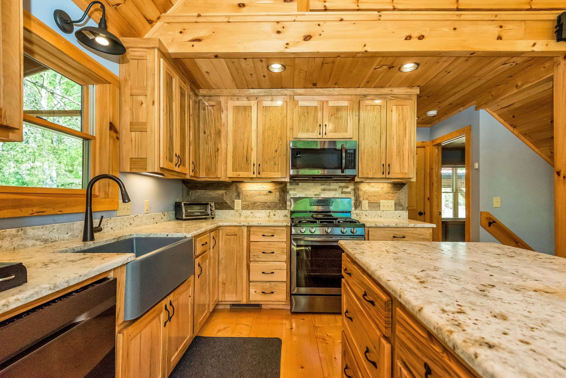
{"type": "Polygon", "coordinates": [[[99,273],[134,260],[134,254],[82,254],[88,247],[130,237],[194,237],[217,226],[289,226],[290,218],[220,218],[216,220],[168,221],[95,234],[95,241],[80,238],[42,246],[0,252],[0,261],[23,263],[27,284],[0,292],[0,313],[45,297],[99,273]],[[75,252],[75,253],[62,253],[75,252]]]}

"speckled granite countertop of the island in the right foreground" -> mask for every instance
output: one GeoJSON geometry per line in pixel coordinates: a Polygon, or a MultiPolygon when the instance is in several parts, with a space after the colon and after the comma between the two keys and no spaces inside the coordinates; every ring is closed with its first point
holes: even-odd
{"type": "Polygon", "coordinates": [[[566,376],[566,259],[496,243],[340,246],[482,377],[566,376]]]}

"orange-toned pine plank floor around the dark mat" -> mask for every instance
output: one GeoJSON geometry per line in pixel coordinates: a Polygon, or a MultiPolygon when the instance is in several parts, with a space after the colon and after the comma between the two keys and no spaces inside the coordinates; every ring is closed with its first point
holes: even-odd
{"type": "Polygon", "coordinates": [[[340,377],[342,323],[338,313],[217,308],[199,336],[279,337],[281,378],[340,377]]]}

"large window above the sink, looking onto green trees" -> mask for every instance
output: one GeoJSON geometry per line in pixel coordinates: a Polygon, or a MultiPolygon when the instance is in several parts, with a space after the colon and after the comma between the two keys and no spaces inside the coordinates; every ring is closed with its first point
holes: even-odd
{"type": "Polygon", "coordinates": [[[22,143],[0,143],[0,185],[80,189],[88,178],[83,86],[24,55],[22,143]]]}

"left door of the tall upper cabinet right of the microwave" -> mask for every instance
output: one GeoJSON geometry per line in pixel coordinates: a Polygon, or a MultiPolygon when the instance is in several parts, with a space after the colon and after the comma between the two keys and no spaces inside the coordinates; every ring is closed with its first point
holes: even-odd
{"type": "Polygon", "coordinates": [[[385,177],[385,136],[387,134],[387,101],[359,102],[358,177],[385,177]]]}

